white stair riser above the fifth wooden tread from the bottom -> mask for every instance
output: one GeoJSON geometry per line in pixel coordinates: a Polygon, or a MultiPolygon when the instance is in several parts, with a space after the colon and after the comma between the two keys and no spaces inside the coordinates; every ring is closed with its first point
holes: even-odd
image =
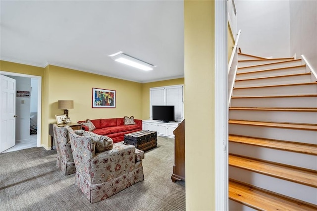
{"type": "Polygon", "coordinates": [[[301,98],[238,98],[231,100],[232,107],[317,107],[317,97],[301,98]]]}

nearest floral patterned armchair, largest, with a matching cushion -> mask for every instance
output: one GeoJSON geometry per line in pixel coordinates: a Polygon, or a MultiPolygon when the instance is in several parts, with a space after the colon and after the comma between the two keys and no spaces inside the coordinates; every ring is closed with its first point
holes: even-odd
{"type": "Polygon", "coordinates": [[[75,184],[91,203],[144,180],[143,151],[133,145],[112,144],[107,136],[87,131],[80,135],[66,128],[76,166],[75,184]]]}

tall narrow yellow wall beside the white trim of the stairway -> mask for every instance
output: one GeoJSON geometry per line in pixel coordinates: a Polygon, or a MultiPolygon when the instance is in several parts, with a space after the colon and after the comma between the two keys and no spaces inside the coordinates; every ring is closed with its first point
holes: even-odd
{"type": "Polygon", "coordinates": [[[186,210],[213,211],[214,1],[184,1],[186,210]]]}

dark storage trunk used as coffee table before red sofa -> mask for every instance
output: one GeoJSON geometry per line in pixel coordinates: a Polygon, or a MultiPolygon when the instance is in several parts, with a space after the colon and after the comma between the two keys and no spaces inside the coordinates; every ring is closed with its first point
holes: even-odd
{"type": "Polygon", "coordinates": [[[157,147],[157,132],[140,130],[124,135],[124,144],[134,145],[137,149],[147,151],[157,147]]]}

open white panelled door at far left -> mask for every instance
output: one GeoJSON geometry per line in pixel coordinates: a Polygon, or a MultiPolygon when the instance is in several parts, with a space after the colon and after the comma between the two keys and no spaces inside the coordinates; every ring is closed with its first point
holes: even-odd
{"type": "Polygon", "coordinates": [[[15,145],[15,79],[0,75],[0,153],[15,145]]]}

